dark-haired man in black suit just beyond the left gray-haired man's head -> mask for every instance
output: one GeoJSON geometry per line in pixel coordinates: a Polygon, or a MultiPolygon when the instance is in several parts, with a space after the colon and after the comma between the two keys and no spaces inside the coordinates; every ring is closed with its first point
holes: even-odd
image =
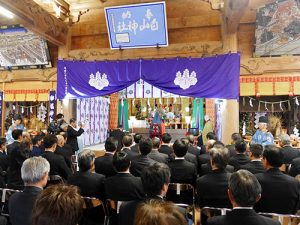
{"type": "Polygon", "coordinates": [[[59,175],[68,180],[71,175],[71,169],[68,167],[65,159],[61,155],[54,153],[57,146],[57,138],[54,134],[48,134],[44,137],[45,152],[42,157],[50,163],[50,175],[59,175]]]}

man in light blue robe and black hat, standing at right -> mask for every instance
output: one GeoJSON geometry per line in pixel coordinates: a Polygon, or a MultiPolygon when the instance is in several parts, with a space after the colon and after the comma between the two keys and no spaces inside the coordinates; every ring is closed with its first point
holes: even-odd
{"type": "Polygon", "coordinates": [[[258,130],[252,136],[251,144],[261,144],[262,146],[274,144],[273,135],[267,130],[268,118],[266,116],[259,117],[258,130]]]}

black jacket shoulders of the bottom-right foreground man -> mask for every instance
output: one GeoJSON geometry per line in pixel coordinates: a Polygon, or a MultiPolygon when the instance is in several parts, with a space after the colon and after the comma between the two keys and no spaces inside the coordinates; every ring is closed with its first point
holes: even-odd
{"type": "Polygon", "coordinates": [[[261,216],[252,209],[234,209],[225,216],[211,217],[207,225],[280,225],[279,221],[261,216]]]}

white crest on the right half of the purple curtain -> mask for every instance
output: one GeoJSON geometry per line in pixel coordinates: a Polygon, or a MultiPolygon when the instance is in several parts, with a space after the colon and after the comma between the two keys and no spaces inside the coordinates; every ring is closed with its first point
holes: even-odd
{"type": "Polygon", "coordinates": [[[185,69],[183,74],[178,71],[176,73],[176,78],[174,80],[174,84],[178,85],[181,89],[185,90],[188,89],[190,86],[197,84],[197,74],[195,71],[190,71],[185,69]]]}

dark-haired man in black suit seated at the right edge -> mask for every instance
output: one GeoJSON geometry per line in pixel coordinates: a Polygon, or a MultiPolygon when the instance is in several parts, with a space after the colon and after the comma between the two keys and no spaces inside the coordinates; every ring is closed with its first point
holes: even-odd
{"type": "Polygon", "coordinates": [[[261,200],[255,205],[257,212],[295,214],[299,208],[300,183],[282,173],[282,151],[275,145],[266,145],[263,152],[264,173],[255,174],[262,187],[261,200]]]}

